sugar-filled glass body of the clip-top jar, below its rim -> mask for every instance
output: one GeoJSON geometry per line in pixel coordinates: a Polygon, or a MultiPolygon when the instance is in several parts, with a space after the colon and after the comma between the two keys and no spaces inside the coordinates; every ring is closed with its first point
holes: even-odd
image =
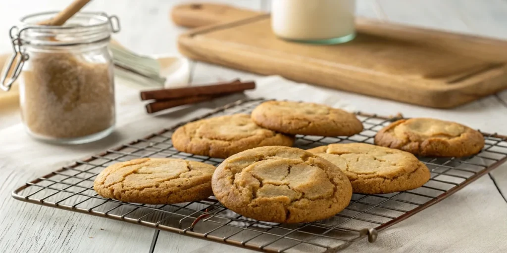
{"type": "Polygon", "coordinates": [[[115,125],[114,64],[106,43],[75,49],[26,47],[18,78],[21,116],[34,138],[79,144],[115,125]]]}

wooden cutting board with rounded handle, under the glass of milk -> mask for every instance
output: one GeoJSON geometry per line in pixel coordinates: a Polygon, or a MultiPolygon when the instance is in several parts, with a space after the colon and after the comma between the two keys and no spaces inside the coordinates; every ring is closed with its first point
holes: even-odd
{"type": "Polygon", "coordinates": [[[192,4],[171,10],[185,56],[427,107],[450,108],[507,88],[507,41],[356,19],[341,45],[277,38],[270,15],[192,4]]]}

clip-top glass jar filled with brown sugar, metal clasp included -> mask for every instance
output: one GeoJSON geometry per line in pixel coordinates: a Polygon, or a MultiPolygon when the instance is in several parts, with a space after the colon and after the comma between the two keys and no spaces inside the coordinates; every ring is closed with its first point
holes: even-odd
{"type": "Polygon", "coordinates": [[[18,78],[21,117],[35,139],[80,144],[113,132],[114,64],[108,49],[119,31],[116,16],[78,13],[63,26],[37,25],[55,13],[38,13],[11,28],[15,54],[0,87],[18,78]]]}

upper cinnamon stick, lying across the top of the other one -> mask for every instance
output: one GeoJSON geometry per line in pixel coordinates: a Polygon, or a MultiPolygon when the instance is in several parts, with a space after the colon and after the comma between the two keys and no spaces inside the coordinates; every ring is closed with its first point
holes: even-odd
{"type": "Polygon", "coordinates": [[[169,100],[201,95],[235,93],[252,89],[255,89],[255,82],[241,82],[239,80],[234,80],[233,82],[223,82],[207,86],[143,91],[141,92],[141,100],[169,100]]]}

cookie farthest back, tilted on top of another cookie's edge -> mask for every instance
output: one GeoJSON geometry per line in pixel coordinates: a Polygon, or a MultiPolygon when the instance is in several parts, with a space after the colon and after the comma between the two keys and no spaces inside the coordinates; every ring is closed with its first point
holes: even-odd
{"type": "Polygon", "coordinates": [[[268,101],[251,117],[263,128],[290,135],[352,136],[363,131],[354,114],[314,103],[268,101]]]}

